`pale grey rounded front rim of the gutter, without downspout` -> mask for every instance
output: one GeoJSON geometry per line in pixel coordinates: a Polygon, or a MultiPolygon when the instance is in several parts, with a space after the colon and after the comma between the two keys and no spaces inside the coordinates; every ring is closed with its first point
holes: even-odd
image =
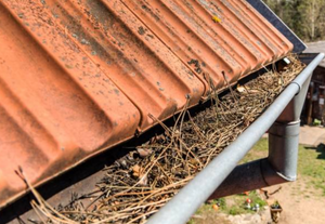
{"type": "MultiPolygon", "coordinates": [[[[323,58],[324,54],[318,54],[301,71],[301,74],[278,95],[278,97],[273,102],[273,104],[253,123],[251,123],[251,126],[247,128],[245,132],[243,132],[237,137],[236,141],[234,141],[218,157],[216,157],[167,205],[165,205],[155,215],[153,215],[147,221],[147,223],[186,223],[192,216],[192,214],[194,214],[195,211],[200,207],[200,205],[204,203],[222,184],[222,182],[231,174],[231,172],[236,168],[240,159],[249,151],[249,149],[255,145],[255,143],[259,141],[259,139],[269,130],[269,128],[274,123],[274,121],[278,120],[280,117],[284,119],[288,115],[287,113],[283,114],[288,104],[291,103],[294,106],[302,107],[302,105],[297,105],[298,101],[292,102],[291,100],[295,95],[299,95],[303,87],[309,84],[309,80],[314,68],[321,63],[323,58]]],[[[302,100],[300,98],[300,101],[302,100]]],[[[296,117],[298,116],[296,110],[291,110],[291,115],[296,117]]],[[[288,119],[290,117],[288,117],[288,119]]],[[[281,151],[272,151],[270,149],[269,158],[272,158],[271,154],[275,158],[278,156],[278,154],[281,154],[281,151]]],[[[264,160],[261,160],[257,163],[252,162],[251,166],[253,166],[256,168],[255,170],[257,171],[261,166],[265,164],[265,169],[268,168],[268,166],[270,166],[269,170],[271,172],[271,176],[273,176],[272,172],[274,172],[277,169],[281,169],[283,166],[283,162],[272,164],[271,162],[269,163],[269,161],[262,161],[264,160]],[[278,167],[276,168],[275,166],[278,167]]],[[[291,171],[291,168],[289,170],[291,171]]],[[[264,174],[260,174],[260,177],[262,179],[264,174]]],[[[291,177],[295,179],[295,175],[291,177]]],[[[271,179],[269,181],[271,181],[271,179]]],[[[247,180],[244,180],[244,182],[247,182],[247,180]]],[[[270,184],[272,183],[273,182],[270,182],[270,184]]]]}

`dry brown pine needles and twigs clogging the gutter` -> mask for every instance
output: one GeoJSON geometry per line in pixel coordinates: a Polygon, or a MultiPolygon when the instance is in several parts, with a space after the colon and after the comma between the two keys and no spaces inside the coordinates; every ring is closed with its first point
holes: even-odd
{"type": "Polygon", "coordinates": [[[56,210],[37,195],[32,206],[46,215],[43,222],[145,222],[245,131],[302,70],[298,60],[289,58],[291,63],[283,71],[265,68],[265,74],[245,85],[229,88],[222,98],[211,88],[212,106],[195,117],[185,107],[173,127],[156,120],[165,133],[107,167],[96,192],[76,196],[56,210]],[[92,202],[84,206],[80,198],[92,202]]]}

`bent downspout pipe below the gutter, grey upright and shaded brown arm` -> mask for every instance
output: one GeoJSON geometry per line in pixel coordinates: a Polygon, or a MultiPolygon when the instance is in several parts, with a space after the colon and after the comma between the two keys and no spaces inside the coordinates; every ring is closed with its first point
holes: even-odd
{"type": "Polygon", "coordinates": [[[209,199],[297,179],[300,121],[275,122],[269,130],[269,157],[237,166],[209,199]]]}

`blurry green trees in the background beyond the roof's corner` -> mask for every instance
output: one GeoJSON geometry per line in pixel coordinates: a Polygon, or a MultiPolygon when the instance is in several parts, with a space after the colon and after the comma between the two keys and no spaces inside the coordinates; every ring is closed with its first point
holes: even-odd
{"type": "Polygon", "coordinates": [[[324,0],[264,0],[304,41],[325,39],[324,0]]]}

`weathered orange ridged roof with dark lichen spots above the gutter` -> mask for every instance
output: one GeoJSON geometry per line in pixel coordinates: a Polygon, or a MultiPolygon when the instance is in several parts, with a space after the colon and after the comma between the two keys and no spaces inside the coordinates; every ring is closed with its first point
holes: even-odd
{"type": "Polygon", "coordinates": [[[0,0],[0,207],[291,49],[245,0],[0,0]]]}

